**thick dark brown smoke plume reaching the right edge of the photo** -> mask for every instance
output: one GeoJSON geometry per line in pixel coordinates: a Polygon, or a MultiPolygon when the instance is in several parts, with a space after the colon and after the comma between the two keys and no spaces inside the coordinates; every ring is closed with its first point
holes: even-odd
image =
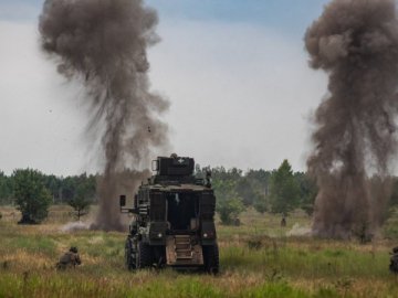
{"type": "Polygon", "coordinates": [[[328,75],[308,171],[320,188],[315,235],[375,233],[397,149],[398,22],[394,0],[334,0],[305,34],[310,64],[328,75]]]}

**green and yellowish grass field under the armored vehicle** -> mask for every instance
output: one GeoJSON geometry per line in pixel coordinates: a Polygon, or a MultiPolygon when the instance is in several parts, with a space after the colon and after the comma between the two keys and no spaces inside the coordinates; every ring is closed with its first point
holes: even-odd
{"type": "Polygon", "coordinates": [[[19,214],[0,207],[0,297],[398,297],[388,272],[398,243],[398,219],[371,244],[297,236],[311,219],[297,212],[280,217],[254,211],[241,226],[218,225],[221,274],[171,269],[129,273],[124,268],[125,233],[61,227],[72,221],[66,206],[53,206],[41,225],[17,225],[19,214]],[[293,228],[294,226],[294,228],[293,228]],[[56,272],[57,258],[77,246],[83,265],[56,272]]]}

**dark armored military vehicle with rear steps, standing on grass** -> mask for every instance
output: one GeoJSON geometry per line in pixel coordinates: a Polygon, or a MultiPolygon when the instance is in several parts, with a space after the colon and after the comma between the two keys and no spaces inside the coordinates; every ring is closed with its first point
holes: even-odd
{"type": "Polygon", "coordinates": [[[129,270],[171,266],[219,272],[211,174],[198,179],[193,167],[192,158],[158,157],[153,161],[156,174],[139,187],[133,207],[121,195],[121,211],[134,219],[125,245],[129,270]]]}

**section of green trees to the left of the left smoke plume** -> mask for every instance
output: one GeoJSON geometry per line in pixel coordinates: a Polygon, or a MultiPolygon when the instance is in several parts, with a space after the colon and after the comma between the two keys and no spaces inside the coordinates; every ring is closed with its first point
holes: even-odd
{"type": "Polygon", "coordinates": [[[80,220],[96,202],[98,177],[83,173],[63,178],[34,169],[17,169],[11,175],[0,171],[0,204],[15,204],[22,213],[20,223],[40,223],[51,204],[71,205],[80,220]]]}

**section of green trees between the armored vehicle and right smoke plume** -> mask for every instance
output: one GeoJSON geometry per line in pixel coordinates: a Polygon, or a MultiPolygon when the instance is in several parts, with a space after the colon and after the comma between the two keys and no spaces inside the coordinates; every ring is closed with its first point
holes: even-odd
{"type": "Polygon", "coordinates": [[[196,167],[199,175],[209,170],[217,196],[217,212],[224,224],[239,224],[239,214],[251,206],[260,213],[272,212],[282,216],[287,216],[297,207],[308,215],[313,212],[316,183],[304,172],[293,172],[287,160],[272,171],[243,172],[237,168],[196,167]]]}

